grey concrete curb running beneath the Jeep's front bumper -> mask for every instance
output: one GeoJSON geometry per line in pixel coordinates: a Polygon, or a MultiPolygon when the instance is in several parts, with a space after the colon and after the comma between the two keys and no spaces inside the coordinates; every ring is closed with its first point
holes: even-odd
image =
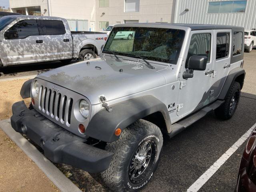
{"type": "Polygon", "coordinates": [[[41,154],[35,146],[11,127],[10,119],[0,121],[0,128],[20,147],[26,155],[46,174],[62,192],[81,192],[64,174],[41,154]]]}

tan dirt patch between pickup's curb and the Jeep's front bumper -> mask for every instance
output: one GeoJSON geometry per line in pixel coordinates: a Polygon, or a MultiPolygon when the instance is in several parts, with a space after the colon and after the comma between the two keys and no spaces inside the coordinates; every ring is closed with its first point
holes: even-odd
{"type": "MultiPolygon", "coordinates": [[[[0,120],[12,116],[12,104],[23,100],[20,89],[27,79],[0,82],[0,120]]],[[[28,105],[30,98],[24,99],[28,105]]]]}

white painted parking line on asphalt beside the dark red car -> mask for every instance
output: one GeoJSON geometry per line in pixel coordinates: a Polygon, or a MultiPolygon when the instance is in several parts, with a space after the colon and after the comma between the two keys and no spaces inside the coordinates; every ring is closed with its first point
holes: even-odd
{"type": "Polygon", "coordinates": [[[256,123],[242,136],[238,139],[237,142],[234,143],[204,174],[196,180],[187,190],[187,192],[197,192],[213,175],[214,173],[222,166],[230,156],[236,152],[236,150],[247,140],[250,136],[254,128],[256,127],[256,123]]]}

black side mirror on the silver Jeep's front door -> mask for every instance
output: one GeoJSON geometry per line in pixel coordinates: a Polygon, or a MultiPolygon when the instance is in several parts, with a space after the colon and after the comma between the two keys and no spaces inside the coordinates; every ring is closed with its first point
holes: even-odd
{"type": "Polygon", "coordinates": [[[188,60],[188,69],[204,71],[206,69],[208,57],[193,55],[188,60]]]}

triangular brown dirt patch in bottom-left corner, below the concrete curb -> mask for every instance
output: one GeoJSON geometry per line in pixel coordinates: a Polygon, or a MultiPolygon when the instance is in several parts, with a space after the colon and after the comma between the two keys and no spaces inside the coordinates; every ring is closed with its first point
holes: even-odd
{"type": "Polygon", "coordinates": [[[0,156],[0,191],[59,191],[44,172],[1,129],[0,156]]]}

